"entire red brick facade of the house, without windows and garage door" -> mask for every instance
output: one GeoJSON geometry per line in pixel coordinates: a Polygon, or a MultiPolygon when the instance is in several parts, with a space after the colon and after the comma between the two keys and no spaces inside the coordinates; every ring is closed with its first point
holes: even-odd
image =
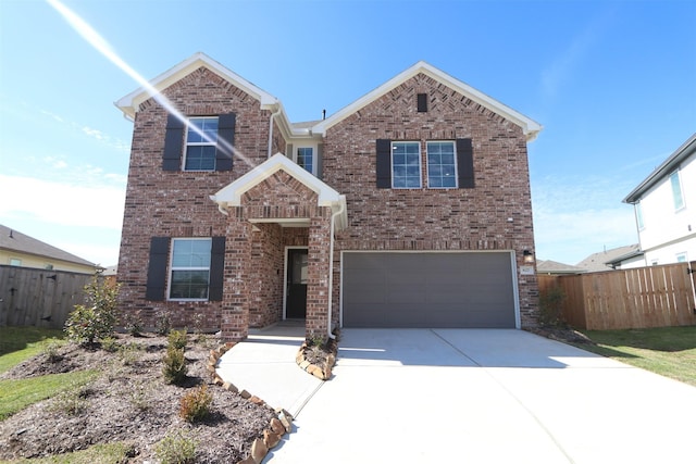
{"type": "MultiPolygon", "coordinates": [[[[167,312],[175,326],[222,330],[241,339],[248,327],[283,317],[287,247],[309,250],[307,334],[325,335],[340,322],[343,250],[534,250],[526,138],[522,128],[438,80],[417,74],[327,128],[323,181],[347,198],[348,227],[335,237],[330,289],[332,210],[315,191],[283,171],[249,188],[240,205],[223,214],[211,201],[225,186],[291,142],[283,114],[207,67],[163,89],[184,116],[236,114],[232,171],[164,172],[167,111],[154,99],[135,109],[133,148],[122,233],[119,281],[123,312],[139,311],[146,326],[167,312]],[[426,93],[427,112],[417,111],[426,93]],[[271,134],[271,130],[273,131],[271,134]],[[380,189],[377,139],[472,140],[475,188],[380,189]],[[269,150],[269,143],[271,149],[269,150]],[[301,218],[293,227],[287,220],[301,218]],[[152,237],[224,237],[222,301],[146,299],[152,237]]],[[[423,150],[424,151],[424,150],[423,150]]],[[[422,164],[426,178],[425,163],[422,164]]],[[[518,276],[523,326],[536,324],[535,276],[518,276]]]]}

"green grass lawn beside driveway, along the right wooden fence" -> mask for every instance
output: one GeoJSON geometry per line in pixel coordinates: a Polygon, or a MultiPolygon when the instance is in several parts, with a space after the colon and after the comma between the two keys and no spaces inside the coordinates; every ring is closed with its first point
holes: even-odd
{"type": "Polygon", "coordinates": [[[696,387],[696,326],[581,331],[597,343],[583,350],[696,387]]]}

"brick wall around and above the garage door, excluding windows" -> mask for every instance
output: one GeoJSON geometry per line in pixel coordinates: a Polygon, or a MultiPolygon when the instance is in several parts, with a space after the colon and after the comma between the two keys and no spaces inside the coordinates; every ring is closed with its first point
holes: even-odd
{"type": "MultiPolygon", "coordinates": [[[[347,198],[349,226],[337,235],[334,308],[340,250],[534,250],[526,141],[522,129],[419,74],[331,127],[324,138],[324,181],[347,198]],[[426,93],[428,111],[417,112],[426,93]],[[377,189],[375,140],[471,138],[475,188],[377,189]],[[511,217],[512,222],[508,222],[511,217]]],[[[537,324],[535,276],[518,276],[523,326],[537,324]]]]}

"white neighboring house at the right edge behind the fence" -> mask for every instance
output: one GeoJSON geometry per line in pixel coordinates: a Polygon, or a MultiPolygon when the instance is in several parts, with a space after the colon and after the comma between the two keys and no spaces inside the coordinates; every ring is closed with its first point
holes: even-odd
{"type": "Polygon", "coordinates": [[[623,202],[635,209],[644,265],[696,261],[696,134],[623,202]]]}

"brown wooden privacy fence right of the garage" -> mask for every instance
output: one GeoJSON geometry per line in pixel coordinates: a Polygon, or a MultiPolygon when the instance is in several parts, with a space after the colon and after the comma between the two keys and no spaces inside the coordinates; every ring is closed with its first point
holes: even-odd
{"type": "Polygon", "coordinates": [[[539,293],[555,286],[566,294],[562,315],[577,328],[696,325],[696,262],[577,275],[538,275],[539,293]]]}

